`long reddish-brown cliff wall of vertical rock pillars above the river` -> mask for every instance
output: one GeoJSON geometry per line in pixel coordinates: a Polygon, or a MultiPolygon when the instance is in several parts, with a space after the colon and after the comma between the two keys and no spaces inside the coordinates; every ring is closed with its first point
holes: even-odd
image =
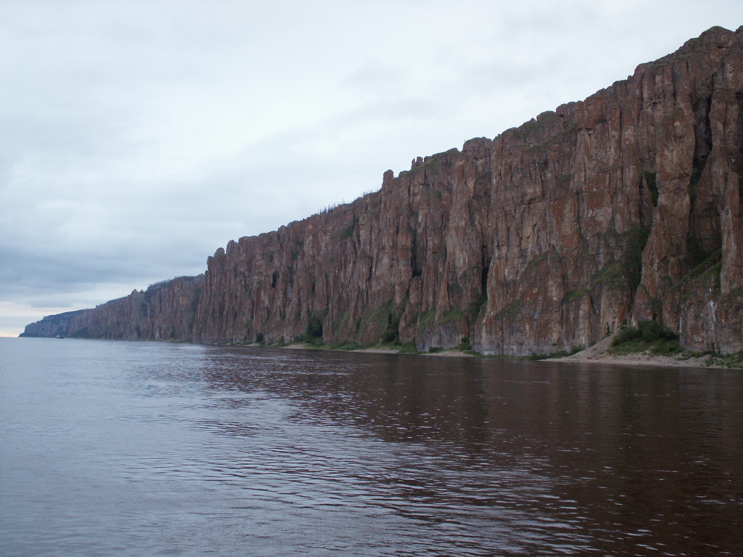
{"type": "Polygon", "coordinates": [[[250,342],[322,325],[325,342],[467,336],[522,355],[658,319],[687,348],[737,352],[742,174],[743,27],[713,27],[583,102],[419,157],[380,192],[231,241],[203,279],[85,310],[69,330],[250,342]]]}

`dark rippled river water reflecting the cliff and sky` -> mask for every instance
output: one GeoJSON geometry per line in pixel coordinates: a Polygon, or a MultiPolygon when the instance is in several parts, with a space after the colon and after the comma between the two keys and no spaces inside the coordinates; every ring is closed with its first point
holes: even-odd
{"type": "Polygon", "coordinates": [[[3,556],[743,555],[741,371],[0,339],[3,556]]]}

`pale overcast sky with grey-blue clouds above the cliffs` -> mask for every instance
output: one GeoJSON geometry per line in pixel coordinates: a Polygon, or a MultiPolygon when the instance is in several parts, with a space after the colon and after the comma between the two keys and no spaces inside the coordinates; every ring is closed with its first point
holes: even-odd
{"type": "Polygon", "coordinates": [[[0,0],[0,336],[626,79],[740,0],[0,0]]]}

